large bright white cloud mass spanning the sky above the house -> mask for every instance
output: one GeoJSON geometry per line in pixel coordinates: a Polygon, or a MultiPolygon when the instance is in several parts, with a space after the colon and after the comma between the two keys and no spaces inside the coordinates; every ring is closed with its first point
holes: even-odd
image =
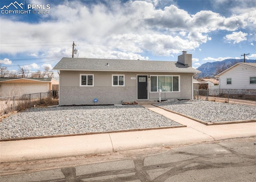
{"type": "MultiPolygon", "coordinates": [[[[256,10],[226,18],[212,11],[192,15],[174,4],[159,8],[166,4],[160,0],[121,3],[110,1],[107,7],[101,3],[86,6],[80,1],[63,1],[51,6],[50,14],[46,15],[48,19],[38,23],[1,17],[1,25],[4,25],[0,26],[1,42],[25,43],[15,44],[20,46],[15,49],[3,46],[1,52],[45,57],[70,56],[71,43],[75,40],[80,57],[147,59],[140,53],[149,51],[154,55],[172,56],[185,49],[194,50],[210,41],[212,38],[208,34],[211,32],[236,31],[256,24],[256,10]],[[38,43],[42,40],[50,43],[38,43]]],[[[226,39],[239,43],[246,40],[246,35],[232,33],[226,35],[226,39]]]]}

